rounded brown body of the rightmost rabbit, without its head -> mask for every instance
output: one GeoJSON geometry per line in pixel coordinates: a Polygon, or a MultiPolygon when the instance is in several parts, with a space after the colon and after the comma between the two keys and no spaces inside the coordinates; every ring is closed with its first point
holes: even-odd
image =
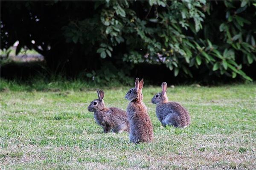
{"type": "Polygon", "coordinates": [[[177,102],[160,103],[156,113],[163,126],[186,127],[190,124],[189,112],[177,102]]]}

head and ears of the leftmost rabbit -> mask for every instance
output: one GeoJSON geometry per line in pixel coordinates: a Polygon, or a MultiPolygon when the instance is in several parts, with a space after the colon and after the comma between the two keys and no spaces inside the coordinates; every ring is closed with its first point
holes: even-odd
{"type": "Polygon", "coordinates": [[[93,100],[88,106],[88,111],[90,112],[101,111],[102,109],[105,108],[105,103],[103,101],[104,91],[98,89],[97,93],[98,93],[98,99],[93,100]]]}

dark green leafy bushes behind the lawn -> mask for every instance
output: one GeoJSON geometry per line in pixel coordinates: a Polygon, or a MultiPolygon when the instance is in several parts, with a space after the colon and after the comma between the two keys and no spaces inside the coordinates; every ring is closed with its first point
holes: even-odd
{"type": "Polygon", "coordinates": [[[17,52],[26,45],[43,54],[50,68],[65,65],[67,74],[86,68],[87,77],[96,81],[129,76],[142,62],[165,64],[175,76],[192,77],[198,69],[251,80],[242,67],[256,61],[255,3],[3,2],[1,49],[19,40],[17,52]]]}

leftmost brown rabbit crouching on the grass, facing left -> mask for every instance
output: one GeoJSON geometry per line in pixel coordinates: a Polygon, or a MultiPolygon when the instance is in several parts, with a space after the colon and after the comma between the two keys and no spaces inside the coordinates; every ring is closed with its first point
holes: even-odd
{"type": "Polygon", "coordinates": [[[112,130],[114,133],[129,132],[130,126],[127,113],[119,108],[106,108],[103,101],[104,91],[97,90],[98,99],[88,106],[88,111],[94,112],[94,119],[103,128],[104,133],[112,130]]]}

